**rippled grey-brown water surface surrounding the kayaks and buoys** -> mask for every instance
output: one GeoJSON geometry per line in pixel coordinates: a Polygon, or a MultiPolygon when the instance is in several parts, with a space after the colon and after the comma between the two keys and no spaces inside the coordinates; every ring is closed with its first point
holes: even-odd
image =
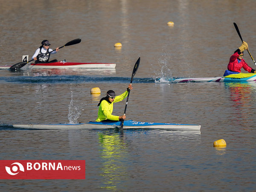
{"type": "MultiPolygon", "coordinates": [[[[241,41],[256,55],[256,3],[192,0],[6,1],[0,63],[31,57],[114,62],[115,70],[0,70],[1,160],[86,160],[85,180],[1,180],[5,191],[255,191],[256,83],[155,83],[222,76],[241,41]],[[244,14],[246,13],[246,14],[244,14]],[[173,21],[174,26],[166,23],[173,21]],[[113,45],[121,42],[122,49],[113,45]],[[127,118],[201,125],[201,131],[23,130],[15,123],[95,120],[99,99],[125,91],[141,57],[127,118]],[[90,89],[100,87],[100,95],[90,89]],[[213,148],[224,139],[227,147],[213,148]]],[[[245,60],[254,67],[245,52],[245,60]]],[[[244,72],[244,71],[243,71],[244,72]]],[[[123,113],[125,101],[113,114],[123,113]]]]}

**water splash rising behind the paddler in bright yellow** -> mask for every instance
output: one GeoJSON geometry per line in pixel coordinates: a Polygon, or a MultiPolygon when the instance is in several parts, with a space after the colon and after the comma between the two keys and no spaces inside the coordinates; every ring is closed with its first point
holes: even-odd
{"type": "Polygon", "coordinates": [[[73,100],[73,91],[71,91],[71,101],[68,107],[68,120],[70,124],[78,123],[77,119],[81,115],[81,104],[76,106],[73,100]],[[80,106],[80,107],[79,107],[80,106]]]}

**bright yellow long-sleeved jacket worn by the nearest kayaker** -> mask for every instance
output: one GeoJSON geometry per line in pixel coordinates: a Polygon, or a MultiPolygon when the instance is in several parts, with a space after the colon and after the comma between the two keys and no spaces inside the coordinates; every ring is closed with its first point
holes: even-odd
{"type": "Polygon", "coordinates": [[[119,121],[119,116],[112,115],[113,104],[116,102],[122,101],[127,96],[128,96],[128,91],[126,90],[121,95],[116,96],[115,100],[112,103],[109,103],[106,100],[103,100],[99,105],[98,117],[97,117],[96,121],[99,122],[99,121],[103,121],[106,119],[113,120],[113,121],[119,121]]]}

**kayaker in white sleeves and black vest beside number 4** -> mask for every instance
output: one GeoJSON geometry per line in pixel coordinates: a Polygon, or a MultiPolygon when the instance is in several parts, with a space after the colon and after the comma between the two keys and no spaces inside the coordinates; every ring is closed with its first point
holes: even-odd
{"type": "MultiPolygon", "coordinates": [[[[35,60],[35,63],[49,63],[50,55],[57,53],[59,49],[58,49],[58,47],[56,48],[55,51],[52,51],[52,49],[49,49],[49,46],[51,44],[47,40],[42,41],[41,44],[42,45],[38,49],[35,50],[35,53],[32,56],[32,59],[35,60]],[[51,52],[51,53],[49,53],[49,52],[51,52]]],[[[50,62],[57,62],[57,60],[55,59],[50,62]]]]}

